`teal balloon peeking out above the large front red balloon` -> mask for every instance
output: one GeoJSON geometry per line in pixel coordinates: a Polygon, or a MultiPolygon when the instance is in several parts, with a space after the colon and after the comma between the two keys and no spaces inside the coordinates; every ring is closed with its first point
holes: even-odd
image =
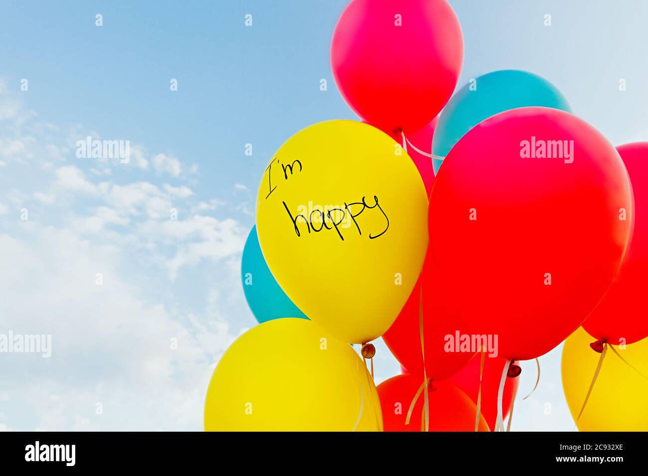
{"type": "Polygon", "coordinates": [[[432,138],[434,175],[454,144],[482,120],[527,106],[572,112],[557,87],[537,74],[503,69],[471,80],[450,98],[439,117],[432,138]]]}

